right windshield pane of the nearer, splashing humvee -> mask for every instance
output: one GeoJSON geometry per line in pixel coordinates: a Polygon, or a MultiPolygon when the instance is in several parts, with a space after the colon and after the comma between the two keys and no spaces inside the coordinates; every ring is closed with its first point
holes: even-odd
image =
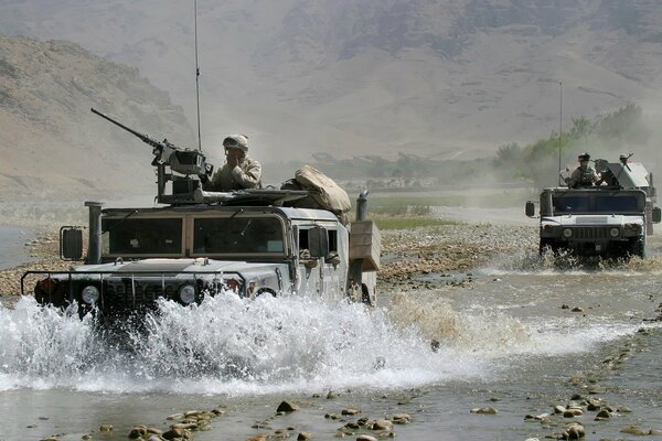
{"type": "Polygon", "coordinates": [[[194,254],[282,254],[280,219],[264,217],[196,218],[193,226],[194,254]]]}

